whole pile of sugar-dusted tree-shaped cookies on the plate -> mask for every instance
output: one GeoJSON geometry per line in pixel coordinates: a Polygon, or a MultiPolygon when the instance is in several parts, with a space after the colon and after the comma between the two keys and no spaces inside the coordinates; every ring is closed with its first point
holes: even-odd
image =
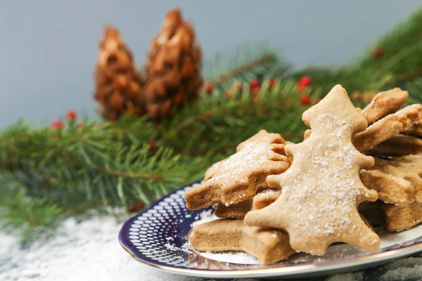
{"type": "Polygon", "coordinates": [[[302,119],[302,143],[260,131],[213,164],[186,192],[186,207],[217,204],[220,219],[193,228],[198,251],[246,251],[262,263],[295,252],[322,255],[335,242],[369,251],[371,224],[390,231],[422,220],[422,105],[408,93],[378,93],[363,110],[335,86],[302,119]],[[421,153],[421,154],[418,154],[421,153]]]}

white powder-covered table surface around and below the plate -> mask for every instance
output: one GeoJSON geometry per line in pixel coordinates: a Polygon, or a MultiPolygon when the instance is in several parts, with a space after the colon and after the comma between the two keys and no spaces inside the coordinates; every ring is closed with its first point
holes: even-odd
{"type": "MultiPolygon", "coordinates": [[[[0,280],[213,280],[173,275],[134,261],[117,241],[120,226],[113,217],[94,217],[82,223],[68,218],[56,236],[36,240],[30,247],[21,247],[18,237],[0,233],[0,280]]],[[[378,268],[311,280],[422,280],[422,254],[378,268]]]]}

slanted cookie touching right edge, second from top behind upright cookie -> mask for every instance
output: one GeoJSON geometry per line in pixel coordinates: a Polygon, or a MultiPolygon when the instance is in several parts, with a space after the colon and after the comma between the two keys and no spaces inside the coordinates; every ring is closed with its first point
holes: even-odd
{"type": "Polygon", "coordinates": [[[396,113],[387,115],[383,119],[369,126],[365,131],[354,136],[354,146],[359,151],[369,150],[388,138],[397,135],[422,117],[422,105],[409,105],[396,113]]]}

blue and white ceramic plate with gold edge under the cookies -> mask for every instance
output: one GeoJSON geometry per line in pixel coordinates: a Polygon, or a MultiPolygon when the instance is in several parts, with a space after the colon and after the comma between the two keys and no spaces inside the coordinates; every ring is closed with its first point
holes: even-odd
{"type": "Polygon", "coordinates": [[[210,216],[214,207],[189,211],[184,193],[193,183],[176,190],[140,214],[130,218],[120,230],[122,247],[137,261],[172,273],[199,277],[311,277],[345,273],[387,263],[391,259],[422,251],[422,225],[388,233],[376,228],[381,249],[365,251],[349,244],[332,244],[324,256],[294,254],[272,265],[260,264],[248,254],[197,252],[186,242],[196,221],[210,216]]]}

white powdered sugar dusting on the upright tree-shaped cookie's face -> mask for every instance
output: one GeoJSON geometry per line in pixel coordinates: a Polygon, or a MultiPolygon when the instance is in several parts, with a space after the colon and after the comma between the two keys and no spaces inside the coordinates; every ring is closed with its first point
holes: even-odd
{"type": "MultiPolygon", "coordinates": [[[[329,136],[327,143],[318,142],[316,150],[309,149],[309,146],[303,143],[300,149],[295,150],[297,162],[305,159],[305,164],[301,165],[300,169],[293,169],[293,161],[293,166],[288,170],[290,183],[281,185],[282,193],[288,193],[290,202],[295,202],[297,206],[306,206],[307,219],[298,217],[293,228],[307,233],[308,236],[319,237],[323,233],[340,236],[350,228],[356,227],[352,224],[349,214],[351,209],[355,209],[359,195],[364,193],[359,177],[352,173],[354,166],[359,164],[359,152],[350,141],[352,122],[328,115],[320,115],[319,121],[325,124],[324,133],[329,136]],[[333,137],[336,141],[329,142],[330,146],[324,148],[333,137]],[[304,169],[307,169],[307,173],[303,173],[304,169]],[[300,189],[298,185],[301,185],[300,189]],[[323,207],[321,203],[324,204],[323,207]],[[327,217],[331,219],[324,220],[321,224],[316,223],[327,217]]],[[[315,143],[312,136],[308,140],[312,148],[312,143],[315,143]]],[[[298,213],[298,216],[302,215],[302,212],[298,213]]]]}

